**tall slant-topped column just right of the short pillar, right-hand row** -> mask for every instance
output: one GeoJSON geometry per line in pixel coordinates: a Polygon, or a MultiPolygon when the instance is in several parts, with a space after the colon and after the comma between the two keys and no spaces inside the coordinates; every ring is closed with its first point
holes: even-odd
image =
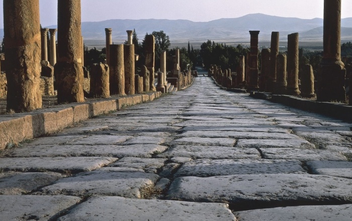
{"type": "Polygon", "coordinates": [[[301,93],[298,88],[298,33],[290,34],[287,37],[287,93],[298,96],[301,93]]]}

